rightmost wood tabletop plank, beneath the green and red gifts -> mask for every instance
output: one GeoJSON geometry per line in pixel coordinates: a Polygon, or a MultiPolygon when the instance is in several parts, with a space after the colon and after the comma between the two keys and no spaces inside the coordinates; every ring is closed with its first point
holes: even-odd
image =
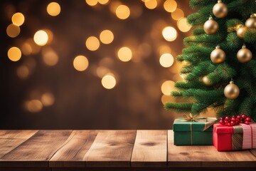
{"type": "Polygon", "coordinates": [[[176,146],[173,131],[168,131],[169,167],[256,167],[250,150],[218,152],[213,146],[176,146]]]}

